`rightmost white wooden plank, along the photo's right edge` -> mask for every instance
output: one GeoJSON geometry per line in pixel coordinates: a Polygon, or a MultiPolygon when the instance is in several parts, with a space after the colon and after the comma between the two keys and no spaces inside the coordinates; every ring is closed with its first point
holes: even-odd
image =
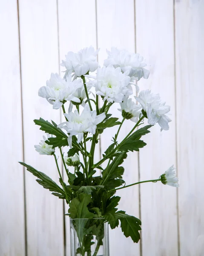
{"type": "Polygon", "coordinates": [[[181,256],[204,255],[204,1],[175,2],[181,256]]]}

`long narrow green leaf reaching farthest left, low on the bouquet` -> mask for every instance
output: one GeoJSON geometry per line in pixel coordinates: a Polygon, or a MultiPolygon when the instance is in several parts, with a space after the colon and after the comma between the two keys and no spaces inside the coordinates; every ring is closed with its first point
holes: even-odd
{"type": "Polygon", "coordinates": [[[26,167],[26,169],[31,172],[34,176],[36,176],[38,179],[36,180],[43,188],[49,189],[49,191],[57,192],[64,196],[63,189],[60,188],[60,186],[55,183],[50,177],[48,177],[43,172],[39,172],[36,169],[34,169],[32,166],[27,165],[26,163],[19,162],[22,166],[26,167]]]}

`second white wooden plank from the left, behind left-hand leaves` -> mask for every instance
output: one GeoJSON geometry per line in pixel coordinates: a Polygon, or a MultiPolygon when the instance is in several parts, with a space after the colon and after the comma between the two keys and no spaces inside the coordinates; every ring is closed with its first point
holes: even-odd
{"type": "MultiPolygon", "coordinates": [[[[39,155],[34,150],[44,133],[33,122],[40,117],[60,122],[60,111],[38,97],[38,89],[46,85],[51,72],[58,72],[57,3],[19,0],[19,12],[25,162],[58,183],[54,157],[39,155]]],[[[26,172],[29,256],[64,255],[62,203],[26,172]]]]}

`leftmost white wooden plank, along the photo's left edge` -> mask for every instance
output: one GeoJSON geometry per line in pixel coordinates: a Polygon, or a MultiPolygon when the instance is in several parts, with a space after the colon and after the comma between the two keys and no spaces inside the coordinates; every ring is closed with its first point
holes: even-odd
{"type": "Polygon", "coordinates": [[[17,2],[0,1],[0,255],[24,256],[24,192],[17,2]]]}

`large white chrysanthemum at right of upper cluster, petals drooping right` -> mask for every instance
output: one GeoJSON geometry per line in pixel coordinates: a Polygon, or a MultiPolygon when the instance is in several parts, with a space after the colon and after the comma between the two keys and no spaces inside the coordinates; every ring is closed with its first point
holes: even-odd
{"type": "Polygon", "coordinates": [[[147,113],[148,123],[154,125],[158,123],[161,131],[169,130],[171,119],[166,114],[170,112],[170,106],[161,102],[159,94],[151,93],[151,90],[143,90],[138,97],[135,97],[147,113]]]}

